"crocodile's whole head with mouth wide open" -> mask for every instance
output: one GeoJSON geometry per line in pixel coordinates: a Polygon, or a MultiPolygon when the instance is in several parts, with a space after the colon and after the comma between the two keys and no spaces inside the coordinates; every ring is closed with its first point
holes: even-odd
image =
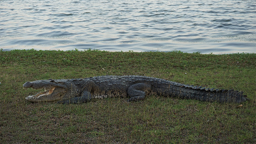
{"type": "MultiPolygon", "coordinates": [[[[44,92],[39,92],[35,95],[26,97],[30,102],[54,102],[62,99],[70,98],[72,93],[73,83],[67,79],[48,79],[27,81],[23,84],[24,88],[44,89],[44,92]]],[[[73,85],[73,88],[76,86],[73,85]]]]}

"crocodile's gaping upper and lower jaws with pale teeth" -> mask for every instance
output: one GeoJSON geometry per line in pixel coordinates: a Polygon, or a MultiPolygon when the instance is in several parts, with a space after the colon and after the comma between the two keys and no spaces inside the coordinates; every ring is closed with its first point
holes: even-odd
{"type": "Polygon", "coordinates": [[[53,102],[61,100],[65,93],[66,85],[50,82],[49,80],[37,80],[26,82],[23,84],[24,88],[45,89],[44,92],[39,92],[35,95],[28,96],[25,99],[30,102],[53,102]]]}

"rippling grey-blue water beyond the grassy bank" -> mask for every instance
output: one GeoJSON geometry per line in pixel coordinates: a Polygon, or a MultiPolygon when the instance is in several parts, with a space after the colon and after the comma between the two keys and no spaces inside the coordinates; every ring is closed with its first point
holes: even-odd
{"type": "Polygon", "coordinates": [[[256,1],[0,0],[0,48],[256,53],[256,1]]]}

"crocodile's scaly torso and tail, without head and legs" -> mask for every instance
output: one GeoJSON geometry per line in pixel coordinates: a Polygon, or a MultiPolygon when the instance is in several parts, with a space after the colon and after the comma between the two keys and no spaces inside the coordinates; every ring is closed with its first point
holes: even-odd
{"type": "Polygon", "coordinates": [[[162,96],[175,96],[208,102],[241,103],[248,100],[248,98],[245,98],[246,95],[243,95],[243,92],[237,90],[206,89],[206,87],[202,88],[193,85],[184,85],[165,79],[145,76],[97,76],[85,79],[90,79],[98,85],[100,93],[95,93],[95,98],[115,96],[127,97],[127,90],[129,87],[137,83],[145,83],[150,85],[150,93],[162,96]]]}

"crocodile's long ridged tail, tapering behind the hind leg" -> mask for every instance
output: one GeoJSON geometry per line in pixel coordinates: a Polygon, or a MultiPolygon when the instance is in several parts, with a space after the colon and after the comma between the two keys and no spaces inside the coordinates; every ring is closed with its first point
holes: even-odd
{"type": "MultiPolygon", "coordinates": [[[[165,88],[167,87],[165,83],[165,88]]],[[[220,103],[243,103],[248,101],[247,95],[237,90],[224,89],[210,89],[206,87],[198,87],[194,85],[184,85],[176,82],[168,84],[168,92],[163,87],[158,87],[158,92],[163,95],[175,96],[184,99],[195,99],[206,102],[220,102],[220,103]]]]}

